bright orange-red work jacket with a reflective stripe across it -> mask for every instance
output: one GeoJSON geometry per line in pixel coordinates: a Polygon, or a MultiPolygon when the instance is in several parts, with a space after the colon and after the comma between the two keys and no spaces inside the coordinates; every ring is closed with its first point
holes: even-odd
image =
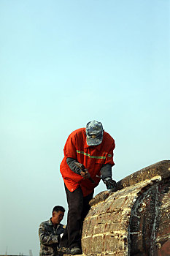
{"type": "Polygon", "coordinates": [[[64,157],[60,165],[61,175],[63,176],[63,181],[67,189],[73,192],[77,187],[81,187],[83,196],[87,196],[93,192],[93,189],[100,181],[99,178],[96,178],[96,175],[101,175],[100,170],[102,165],[115,165],[113,162],[114,148],[115,140],[107,132],[104,132],[103,140],[98,146],[88,146],[86,143],[85,128],[80,128],[72,132],[63,148],[64,157]],[[68,157],[77,159],[77,162],[85,165],[95,184],[92,184],[89,179],[83,179],[82,176],[74,173],[66,163],[68,157]]]}

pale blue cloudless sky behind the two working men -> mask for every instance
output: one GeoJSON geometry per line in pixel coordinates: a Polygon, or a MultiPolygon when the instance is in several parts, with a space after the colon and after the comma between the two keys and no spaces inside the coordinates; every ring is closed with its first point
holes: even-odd
{"type": "Polygon", "coordinates": [[[64,143],[88,121],[115,138],[116,181],[169,159],[169,14],[166,0],[1,0],[0,254],[38,256],[39,223],[67,210],[64,143]]]}

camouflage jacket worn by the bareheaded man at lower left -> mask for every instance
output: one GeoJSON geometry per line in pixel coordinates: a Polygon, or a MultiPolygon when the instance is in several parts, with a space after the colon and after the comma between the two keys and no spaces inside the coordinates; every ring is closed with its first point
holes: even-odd
{"type": "Polygon", "coordinates": [[[40,252],[39,256],[57,256],[57,246],[60,241],[60,235],[66,226],[58,224],[56,227],[51,219],[42,222],[39,225],[40,252]]]}

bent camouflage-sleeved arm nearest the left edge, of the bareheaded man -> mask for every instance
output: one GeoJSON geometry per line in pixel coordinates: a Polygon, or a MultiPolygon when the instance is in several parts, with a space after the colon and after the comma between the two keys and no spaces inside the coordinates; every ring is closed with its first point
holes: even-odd
{"type": "Polygon", "coordinates": [[[49,234],[47,230],[45,229],[45,225],[40,224],[39,225],[39,240],[41,244],[44,245],[52,245],[52,244],[58,244],[59,243],[59,236],[53,236],[52,234],[49,234]]]}

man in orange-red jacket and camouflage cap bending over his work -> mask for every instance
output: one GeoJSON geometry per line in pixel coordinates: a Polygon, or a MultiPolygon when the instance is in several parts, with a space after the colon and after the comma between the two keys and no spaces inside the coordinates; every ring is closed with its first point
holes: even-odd
{"type": "Polygon", "coordinates": [[[75,130],[66,140],[60,170],[69,211],[60,246],[69,248],[72,255],[82,254],[82,222],[90,209],[89,201],[93,198],[94,188],[100,181],[96,176],[104,179],[107,189],[116,189],[116,182],[112,180],[114,148],[115,140],[98,121],[88,122],[86,129],[75,130]],[[85,170],[77,167],[76,162],[84,165],[85,170]]]}

